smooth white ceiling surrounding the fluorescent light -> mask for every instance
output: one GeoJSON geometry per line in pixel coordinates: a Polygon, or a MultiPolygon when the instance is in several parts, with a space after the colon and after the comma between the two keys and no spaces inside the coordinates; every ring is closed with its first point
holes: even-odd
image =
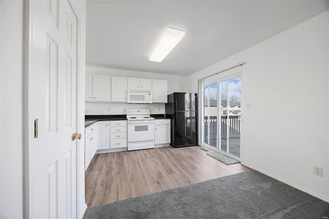
{"type": "Polygon", "coordinates": [[[86,65],[189,76],[327,10],[329,1],[87,0],[86,65]],[[150,62],[168,27],[185,37],[150,62]]]}

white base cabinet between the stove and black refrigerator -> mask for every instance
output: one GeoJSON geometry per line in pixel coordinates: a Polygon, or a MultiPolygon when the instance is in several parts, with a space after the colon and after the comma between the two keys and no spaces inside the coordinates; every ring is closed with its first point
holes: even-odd
{"type": "Polygon", "coordinates": [[[170,143],[170,119],[154,120],[154,144],[170,143]]]}

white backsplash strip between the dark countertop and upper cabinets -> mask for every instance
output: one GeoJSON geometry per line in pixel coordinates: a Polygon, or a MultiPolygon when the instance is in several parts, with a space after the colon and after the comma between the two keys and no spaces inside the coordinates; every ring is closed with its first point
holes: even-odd
{"type": "Polygon", "coordinates": [[[128,108],[149,108],[150,114],[165,114],[165,103],[85,102],[85,115],[125,115],[128,108]]]}

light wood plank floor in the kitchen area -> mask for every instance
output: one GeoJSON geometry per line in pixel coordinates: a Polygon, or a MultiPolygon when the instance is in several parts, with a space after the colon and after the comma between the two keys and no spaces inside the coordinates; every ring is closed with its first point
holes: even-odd
{"type": "MultiPolygon", "coordinates": [[[[85,173],[88,207],[251,170],[208,156],[202,147],[96,154],[85,173]]],[[[204,148],[211,152],[211,149],[204,148]]]]}

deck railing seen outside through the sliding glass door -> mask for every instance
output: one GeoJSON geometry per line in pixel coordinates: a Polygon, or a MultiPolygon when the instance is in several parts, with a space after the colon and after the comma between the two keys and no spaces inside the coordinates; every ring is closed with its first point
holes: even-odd
{"type": "MultiPolygon", "coordinates": [[[[221,134],[229,135],[240,134],[240,120],[239,116],[221,116],[221,134]],[[228,124],[228,130],[227,130],[228,124]]],[[[205,137],[216,136],[217,133],[217,116],[205,116],[205,137]]]]}

